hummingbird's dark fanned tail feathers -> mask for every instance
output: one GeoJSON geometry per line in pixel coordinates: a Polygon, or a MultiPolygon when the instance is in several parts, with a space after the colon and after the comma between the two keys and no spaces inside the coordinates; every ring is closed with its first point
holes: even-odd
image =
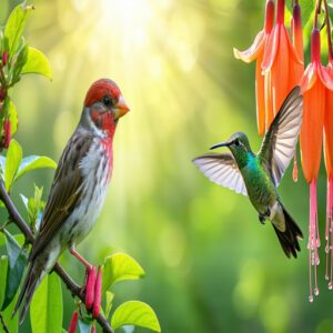
{"type": "Polygon", "coordinates": [[[301,251],[297,239],[303,239],[303,233],[284,206],[282,204],[281,206],[284,214],[285,231],[279,230],[274,223],[273,226],[285,255],[290,258],[292,254],[294,258],[297,258],[296,251],[301,251]]]}

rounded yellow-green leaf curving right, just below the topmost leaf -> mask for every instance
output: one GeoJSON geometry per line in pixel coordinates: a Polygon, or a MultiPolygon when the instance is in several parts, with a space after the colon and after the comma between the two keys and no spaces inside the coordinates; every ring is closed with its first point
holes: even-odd
{"type": "Polygon", "coordinates": [[[29,48],[28,60],[21,71],[21,74],[28,73],[41,74],[50,80],[52,80],[53,77],[48,58],[44,53],[34,48],[29,48]]]}

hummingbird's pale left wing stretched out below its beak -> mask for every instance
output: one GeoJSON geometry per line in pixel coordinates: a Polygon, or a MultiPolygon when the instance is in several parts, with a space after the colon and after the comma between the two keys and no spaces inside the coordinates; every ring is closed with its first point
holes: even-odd
{"type": "Polygon", "coordinates": [[[206,154],[192,162],[212,182],[248,195],[243,176],[231,154],[206,154]]]}

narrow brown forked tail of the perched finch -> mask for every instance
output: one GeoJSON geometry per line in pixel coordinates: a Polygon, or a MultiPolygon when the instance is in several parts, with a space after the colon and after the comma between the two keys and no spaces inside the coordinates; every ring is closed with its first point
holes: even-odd
{"type": "Polygon", "coordinates": [[[12,314],[12,316],[14,316],[21,303],[23,302],[23,306],[20,313],[20,324],[23,322],[26,314],[29,310],[32,295],[44,275],[46,271],[43,269],[43,264],[38,259],[30,263],[24,283],[21,289],[21,293],[19,295],[18,302],[12,314]]]}

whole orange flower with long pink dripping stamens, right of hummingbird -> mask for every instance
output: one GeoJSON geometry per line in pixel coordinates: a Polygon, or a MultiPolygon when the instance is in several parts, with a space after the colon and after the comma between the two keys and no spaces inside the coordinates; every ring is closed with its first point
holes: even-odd
{"type": "MultiPolygon", "coordinates": [[[[316,27],[316,24],[315,24],[316,27]]],[[[319,294],[316,282],[316,266],[319,265],[317,248],[320,246],[316,209],[316,178],[321,163],[323,142],[323,124],[325,112],[325,89],[333,89],[333,80],[326,69],[321,64],[320,30],[313,29],[311,36],[311,63],[307,65],[301,87],[304,93],[303,122],[300,143],[302,154],[302,169],[307,183],[310,183],[310,228],[309,228],[309,260],[310,260],[310,296],[313,301],[312,266],[314,268],[314,294],[319,294]]]]}

